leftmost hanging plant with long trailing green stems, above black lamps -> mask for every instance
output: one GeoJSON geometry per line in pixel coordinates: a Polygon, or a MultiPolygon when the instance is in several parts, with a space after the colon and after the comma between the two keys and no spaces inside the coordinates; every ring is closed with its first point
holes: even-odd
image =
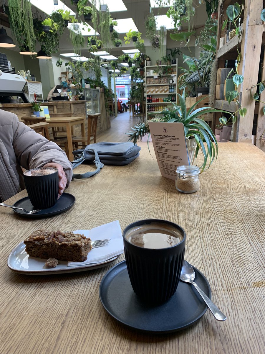
{"type": "Polygon", "coordinates": [[[20,48],[25,45],[29,48],[30,52],[34,52],[36,34],[34,31],[30,1],[8,0],[8,9],[13,38],[20,48]]]}

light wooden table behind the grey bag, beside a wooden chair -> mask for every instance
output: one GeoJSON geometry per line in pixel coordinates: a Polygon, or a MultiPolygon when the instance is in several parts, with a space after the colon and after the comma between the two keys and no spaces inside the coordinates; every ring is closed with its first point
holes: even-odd
{"type": "Polygon", "coordinates": [[[47,120],[50,127],[66,127],[67,134],[67,151],[66,155],[70,161],[73,160],[73,144],[72,144],[72,132],[71,127],[77,124],[81,124],[81,133],[82,136],[85,136],[85,126],[84,126],[85,117],[57,117],[50,118],[47,120]]]}

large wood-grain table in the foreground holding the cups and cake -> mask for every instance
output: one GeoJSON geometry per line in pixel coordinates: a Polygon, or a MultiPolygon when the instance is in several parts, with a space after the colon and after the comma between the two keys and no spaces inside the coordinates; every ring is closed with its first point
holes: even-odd
{"type": "MultiPolygon", "coordinates": [[[[220,144],[199,191],[181,194],[174,181],[161,177],[147,143],[140,145],[140,157],[130,165],[104,166],[92,178],[72,181],[67,192],[76,203],[61,215],[25,219],[0,209],[0,353],[264,353],[264,152],[247,143],[220,144]],[[125,328],[98,295],[102,277],[123,255],[106,268],[50,276],[21,275],[6,265],[13,247],[33,230],[91,229],[116,219],[124,229],[141,218],[182,225],[185,259],[205,274],[225,322],[207,310],[192,327],[163,336],[125,328]]],[[[152,146],[151,152],[155,156],[152,146]]],[[[81,165],[75,172],[93,169],[81,165]]]]}

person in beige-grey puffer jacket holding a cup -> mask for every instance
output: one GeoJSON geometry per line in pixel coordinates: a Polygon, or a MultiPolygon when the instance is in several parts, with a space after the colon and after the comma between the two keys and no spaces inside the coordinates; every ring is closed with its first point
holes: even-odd
{"type": "Polygon", "coordinates": [[[0,109],[0,200],[25,188],[21,167],[43,166],[58,169],[59,197],[72,179],[72,164],[65,152],[20,122],[14,113],[0,109]]]}

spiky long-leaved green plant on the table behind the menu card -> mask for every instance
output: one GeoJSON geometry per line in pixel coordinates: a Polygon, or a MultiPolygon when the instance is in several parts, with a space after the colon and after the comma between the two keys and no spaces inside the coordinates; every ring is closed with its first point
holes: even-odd
{"type": "MultiPolygon", "coordinates": [[[[187,110],[185,103],[185,90],[183,91],[182,96],[177,93],[179,98],[180,105],[176,105],[172,103],[171,107],[167,107],[162,111],[155,112],[155,118],[150,119],[145,123],[140,123],[134,125],[131,128],[131,131],[126,132],[129,135],[129,141],[133,140],[134,144],[138,140],[141,140],[144,136],[150,135],[148,122],[167,122],[167,123],[183,123],[184,125],[184,133],[186,138],[194,138],[197,147],[195,151],[195,158],[197,158],[199,150],[201,150],[204,156],[204,162],[200,166],[201,172],[204,171],[207,163],[208,168],[211,166],[214,159],[217,159],[218,155],[218,145],[216,141],[216,137],[212,132],[210,126],[203,120],[198,118],[201,115],[213,112],[222,112],[228,113],[224,110],[215,109],[212,107],[202,107],[195,109],[195,106],[201,102],[204,98],[201,98],[198,102],[192,105],[189,110],[187,110]],[[204,144],[206,143],[206,145],[204,144]]],[[[231,114],[231,113],[230,113],[231,114]]],[[[154,115],[154,112],[152,112],[154,115]]],[[[232,115],[232,120],[234,120],[234,116],[232,115]]],[[[149,137],[149,136],[148,136],[149,137]]],[[[149,147],[148,147],[149,148],[149,147]]]]}

